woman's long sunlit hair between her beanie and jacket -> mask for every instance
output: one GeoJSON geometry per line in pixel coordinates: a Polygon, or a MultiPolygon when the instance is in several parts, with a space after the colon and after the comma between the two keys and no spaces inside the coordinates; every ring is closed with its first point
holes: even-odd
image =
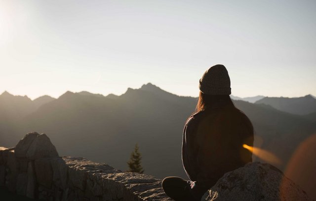
{"type": "Polygon", "coordinates": [[[199,92],[195,113],[200,110],[206,110],[214,107],[235,107],[229,95],[208,95],[199,92]]]}

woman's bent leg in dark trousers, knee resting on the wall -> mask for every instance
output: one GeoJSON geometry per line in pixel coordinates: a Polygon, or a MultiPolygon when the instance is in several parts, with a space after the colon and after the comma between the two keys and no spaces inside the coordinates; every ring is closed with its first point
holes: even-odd
{"type": "Polygon", "coordinates": [[[190,181],[177,176],[168,176],[162,180],[162,189],[175,201],[194,201],[190,195],[190,181]]]}

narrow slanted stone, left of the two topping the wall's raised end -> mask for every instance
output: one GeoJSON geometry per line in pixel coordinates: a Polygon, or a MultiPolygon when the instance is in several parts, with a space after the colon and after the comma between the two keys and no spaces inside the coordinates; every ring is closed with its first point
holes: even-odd
{"type": "Polygon", "coordinates": [[[37,138],[39,135],[40,134],[36,132],[26,134],[15,146],[15,157],[26,158],[26,153],[28,149],[30,148],[35,138],[37,138]]]}

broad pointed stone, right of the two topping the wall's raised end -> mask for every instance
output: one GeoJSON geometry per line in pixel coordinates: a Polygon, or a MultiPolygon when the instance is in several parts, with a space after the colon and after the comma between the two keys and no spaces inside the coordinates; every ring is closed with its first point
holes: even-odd
{"type": "Polygon", "coordinates": [[[59,157],[55,146],[51,143],[46,134],[38,135],[32,142],[26,157],[30,160],[39,158],[53,158],[59,157]]]}

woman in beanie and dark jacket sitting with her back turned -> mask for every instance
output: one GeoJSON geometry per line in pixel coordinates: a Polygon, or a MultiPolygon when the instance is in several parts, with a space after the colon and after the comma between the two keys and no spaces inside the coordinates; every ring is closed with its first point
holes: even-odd
{"type": "Polygon", "coordinates": [[[200,201],[224,173],[252,162],[253,127],[230,98],[231,81],[223,65],[206,70],[199,80],[196,112],[184,127],[183,167],[191,180],[166,177],[164,192],[175,201],[200,201]]]}

